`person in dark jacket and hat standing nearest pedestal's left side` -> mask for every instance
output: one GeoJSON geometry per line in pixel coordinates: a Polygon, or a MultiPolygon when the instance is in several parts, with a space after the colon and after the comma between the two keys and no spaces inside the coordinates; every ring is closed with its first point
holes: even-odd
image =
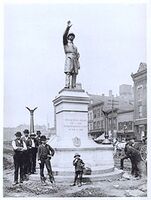
{"type": "Polygon", "coordinates": [[[40,179],[42,184],[45,184],[45,176],[44,176],[44,165],[46,165],[49,180],[51,183],[54,183],[54,176],[51,168],[50,159],[54,156],[54,149],[47,144],[47,138],[45,135],[41,136],[41,145],[38,147],[38,163],[40,164],[40,179]]]}

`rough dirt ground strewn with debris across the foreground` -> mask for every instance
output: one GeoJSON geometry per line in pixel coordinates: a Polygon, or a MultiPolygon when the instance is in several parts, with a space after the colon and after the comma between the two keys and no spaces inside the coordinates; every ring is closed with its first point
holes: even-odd
{"type": "MultiPolygon", "coordinates": [[[[30,175],[28,181],[13,186],[13,159],[12,149],[4,146],[3,152],[3,196],[4,197],[146,197],[147,179],[136,179],[130,176],[130,162],[125,164],[127,168],[119,180],[83,183],[82,187],[71,187],[68,182],[59,182],[52,185],[46,181],[43,186],[40,182],[39,171],[30,175]]],[[[115,165],[119,168],[119,159],[115,159],[115,165]]]]}

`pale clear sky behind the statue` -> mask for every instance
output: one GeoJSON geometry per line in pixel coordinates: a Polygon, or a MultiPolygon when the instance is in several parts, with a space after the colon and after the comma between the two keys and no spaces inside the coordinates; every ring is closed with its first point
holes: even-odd
{"type": "Polygon", "coordinates": [[[53,99],[65,85],[62,44],[71,20],[80,53],[77,82],[92,94],[119,94],[146,62],[145,4],[30,4],[4,7],[4,127],[53,126],[53,99]]]}

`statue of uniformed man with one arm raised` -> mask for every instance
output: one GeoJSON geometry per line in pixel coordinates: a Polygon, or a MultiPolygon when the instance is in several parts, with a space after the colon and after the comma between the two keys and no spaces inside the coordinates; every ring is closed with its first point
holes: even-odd
{"type": "Polygon", "coordinates": [[[78,70],[80,69],[79,57],[77,47],[73,44],[75,38],[74,33],[69,33],[72,24],[70,21],[67,22],[67,28],[63,35],[63,45],[64,52],[66,54],[65,60],[65,69],[64,73],[66,74],[65,87],[66,88],[75,88],[76,87],[76,76],[78,70]]]}

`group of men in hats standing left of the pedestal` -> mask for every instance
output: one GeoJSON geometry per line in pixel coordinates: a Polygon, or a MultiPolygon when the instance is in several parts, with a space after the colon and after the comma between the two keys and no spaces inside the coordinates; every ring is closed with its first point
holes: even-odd
{"type": "Polygon", "coordinates": [[[44,165],[46,165],[50,181],[53,183],[54,178],[52,174],[50,159],[54,155],[55,151],[50,145],[46,144],[47,138],[45,135],[41,136],[41,132],[30,133],[25,129],[22,136],[21,132],[16,132],[16,138],[12,141],[12,147],[14,150],[14,185],[18,184],[19,173],[20,183],[28,180],[30,174],[36,172],[36,160],[38,153],[38,163],[40,165],[40,178],[42,182],[45,182],[44,177],[44,165]]]}

